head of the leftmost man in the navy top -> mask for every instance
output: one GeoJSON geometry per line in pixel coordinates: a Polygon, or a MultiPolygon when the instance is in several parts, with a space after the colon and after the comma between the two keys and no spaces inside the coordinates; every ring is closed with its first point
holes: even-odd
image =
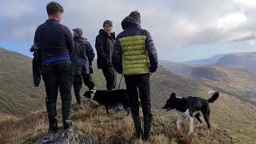
{"type": "Polygon", "coordinates": [[[58,22],[62,19],[62,14],[64,12],[63,7],[58,4],[58,2],[50,2],[46,6],[48,18],[54,18],[58,22]]]}

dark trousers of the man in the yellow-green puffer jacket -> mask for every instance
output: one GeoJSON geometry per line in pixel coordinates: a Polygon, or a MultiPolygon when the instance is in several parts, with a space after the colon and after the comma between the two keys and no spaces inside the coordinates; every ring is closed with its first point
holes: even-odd
{"type": "Polygon", "coordinates": [[[151,115],[150,102],[150,75],[136,74],[125,75],[126,89],[130,97],[130,111],[134,116],[139,115],[139,102],[141,100],[142,112],[145,116],[151,115]]]}

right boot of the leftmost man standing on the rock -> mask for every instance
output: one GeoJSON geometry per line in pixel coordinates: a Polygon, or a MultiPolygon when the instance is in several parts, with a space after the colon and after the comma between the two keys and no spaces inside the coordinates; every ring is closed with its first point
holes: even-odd
{"type": "Polygon", "coordinates": [[[62,101],[62,118],[64,130],[69,129],[72,126],[70,120],[71,101],[62,101]]]}

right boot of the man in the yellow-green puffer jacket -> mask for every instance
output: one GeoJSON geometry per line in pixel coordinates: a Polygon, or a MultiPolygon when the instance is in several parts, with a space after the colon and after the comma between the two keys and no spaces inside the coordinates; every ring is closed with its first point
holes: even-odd
{"type": "Polygon", "coordinates": [[[144,115],[144,135],[143,139],[144,141],[147,141],[150,139],[150,130],[153,122],[153,115],[150,116],[144,115]]]}

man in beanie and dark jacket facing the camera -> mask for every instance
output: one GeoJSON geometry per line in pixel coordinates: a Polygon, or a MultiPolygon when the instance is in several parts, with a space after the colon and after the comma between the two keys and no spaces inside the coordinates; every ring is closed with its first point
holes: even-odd
{"type": "Polygon", "coordinates": [[[112,33],[113,22],[106,20],[103,22],[103,29],[99,30],[96,37],[95,48],[97,50],[98,69],[102,69],[106,78],[106,90],[114,90],[117,82],[117,72],[112,63],[112,53],[115,35],[112,33]]]}

